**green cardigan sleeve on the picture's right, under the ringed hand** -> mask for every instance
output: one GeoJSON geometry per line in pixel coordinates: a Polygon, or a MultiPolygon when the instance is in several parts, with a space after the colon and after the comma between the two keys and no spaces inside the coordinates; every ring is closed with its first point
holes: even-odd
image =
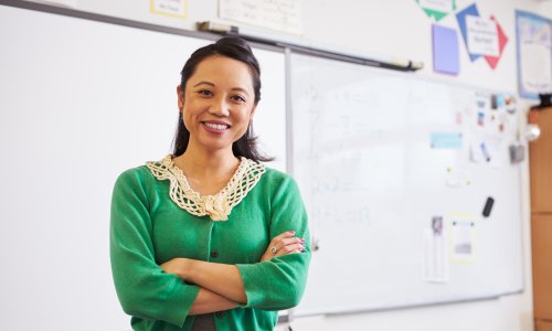
{"type": "Polygon", "coordinates": [[[276,189],[270,206],[270,238],[294,229],[305,238],[305,250],[274,257],[258,264],[238,264],[247,308],[264,310],[289,309],[299,303],[305,291],[310,263],[310,235],[307,212],[296,182],[290,177],[276,189]]]}

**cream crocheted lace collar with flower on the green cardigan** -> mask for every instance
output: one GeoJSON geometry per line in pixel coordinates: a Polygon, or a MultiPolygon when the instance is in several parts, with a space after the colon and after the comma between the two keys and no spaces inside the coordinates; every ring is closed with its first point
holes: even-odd
{"type": "Polygon", "coordinates": [[[224,189],[214,195],[200,195],[188,183],[180,168],[172,162],[172,154],[160,161],[146,162],[158,180],[170,180],[170,199],[182,210],[197,216],[209,215],[213,221],[226,221],[232,207],[238,204],[255,186],[265,172],[264,164],[241,158],[240,166],[224,189]]]}

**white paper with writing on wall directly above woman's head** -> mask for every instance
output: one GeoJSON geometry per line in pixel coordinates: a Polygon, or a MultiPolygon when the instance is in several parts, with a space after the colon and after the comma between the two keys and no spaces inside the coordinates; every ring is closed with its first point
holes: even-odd
{"type": "Polygon", "coordinates": [[[219,17],[287,33],[302,33],[300,0],[219,0],[219,17]]]}

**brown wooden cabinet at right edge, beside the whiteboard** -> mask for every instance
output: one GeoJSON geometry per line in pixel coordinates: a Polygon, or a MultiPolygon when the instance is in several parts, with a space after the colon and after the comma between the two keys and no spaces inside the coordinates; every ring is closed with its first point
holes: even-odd
{"type": "Polygon", "coordinates": [[[538,117],[541,137],[529,143],[533,310],[535,330],[552,331],[552,107],[538,117]]]}

